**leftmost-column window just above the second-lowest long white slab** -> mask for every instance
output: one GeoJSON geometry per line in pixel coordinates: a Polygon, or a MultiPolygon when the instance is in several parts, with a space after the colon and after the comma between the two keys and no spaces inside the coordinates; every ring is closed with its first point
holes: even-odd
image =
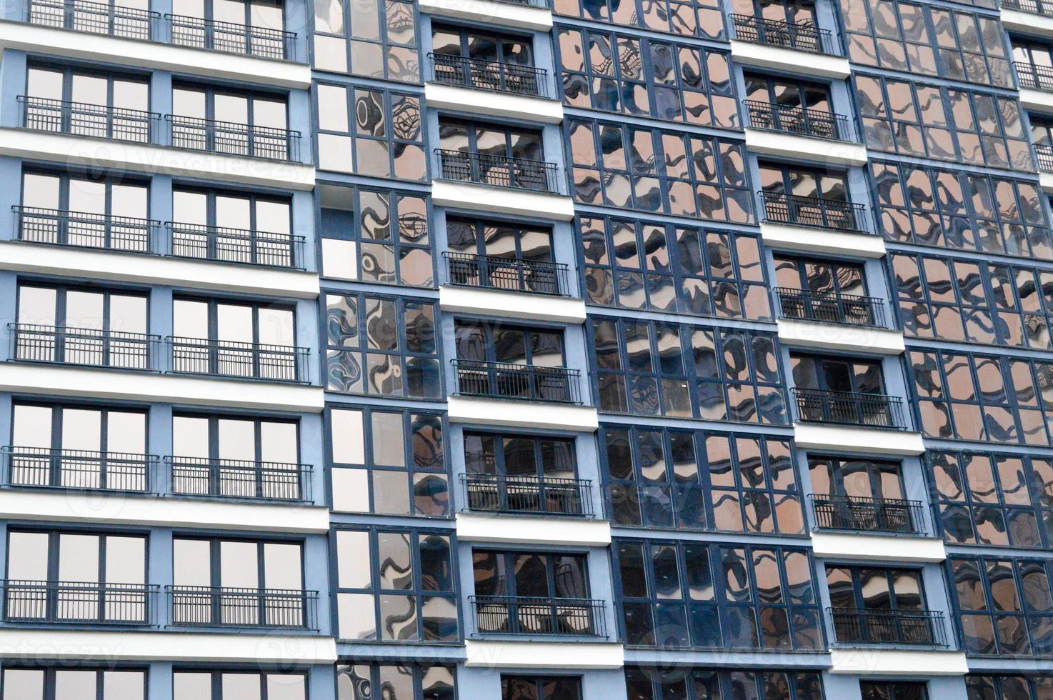
{"type": "Polygon", "coordinates": [[[16,403],[13,414],[12,485],[150,489],[144,411],[16,403]]]}

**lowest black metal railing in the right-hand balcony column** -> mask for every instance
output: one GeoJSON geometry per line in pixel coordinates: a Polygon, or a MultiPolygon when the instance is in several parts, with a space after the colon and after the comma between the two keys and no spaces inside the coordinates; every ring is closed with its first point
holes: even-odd
{"type": "Polygon", "coordinates": [[[939,611],[871,611],[828,607],[838,644],[947,646],[939,611]]]}

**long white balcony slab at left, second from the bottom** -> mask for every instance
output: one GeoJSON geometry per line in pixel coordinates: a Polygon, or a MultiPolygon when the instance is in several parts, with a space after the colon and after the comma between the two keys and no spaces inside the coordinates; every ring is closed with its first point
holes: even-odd
{"type": "Polygon", "coordinates": [[[275,533],[329,532],[329,508],[317,505],[18,487],[0,491],[0,518],[275,533]]]}

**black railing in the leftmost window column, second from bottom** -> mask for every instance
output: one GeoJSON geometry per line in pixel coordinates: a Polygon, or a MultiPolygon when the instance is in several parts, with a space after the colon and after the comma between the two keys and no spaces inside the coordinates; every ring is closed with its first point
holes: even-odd
{"type": "Polygon", "coordinates": [[[8,445],[0,451],[8,486],[150,493],[155,455],[8,445]]]}

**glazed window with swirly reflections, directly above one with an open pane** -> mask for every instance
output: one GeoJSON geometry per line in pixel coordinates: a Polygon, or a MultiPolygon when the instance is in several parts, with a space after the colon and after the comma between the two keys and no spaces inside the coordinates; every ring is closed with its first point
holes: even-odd
{"type": "Polygon", "coordinates": [[[317,83],[316,94],[319,168],[399,180],[425,178],[419,97],[329,83],[317,83]]]}

